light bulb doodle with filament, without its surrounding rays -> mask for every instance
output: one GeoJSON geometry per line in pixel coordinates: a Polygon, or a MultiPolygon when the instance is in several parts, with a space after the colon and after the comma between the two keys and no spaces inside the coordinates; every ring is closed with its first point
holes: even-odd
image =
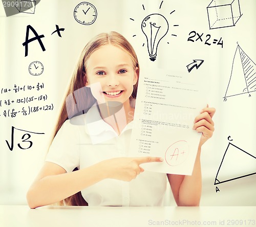
{"type": "Polygon", "coordinates": [[[161,14],[150,14],[143,19],[141,29],[146,36],[147,50],[150,55],[150,60],[155,61],[158,44],[167,34],[169,29],[168,21],[161,14]]]}

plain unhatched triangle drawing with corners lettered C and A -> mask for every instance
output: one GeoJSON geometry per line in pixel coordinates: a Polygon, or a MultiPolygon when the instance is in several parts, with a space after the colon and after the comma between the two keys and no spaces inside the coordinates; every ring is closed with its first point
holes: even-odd
{"type": "Polygon", "coordinates": [[[256,174],[256,157],[229,143],[214,185],[256,174]]]}

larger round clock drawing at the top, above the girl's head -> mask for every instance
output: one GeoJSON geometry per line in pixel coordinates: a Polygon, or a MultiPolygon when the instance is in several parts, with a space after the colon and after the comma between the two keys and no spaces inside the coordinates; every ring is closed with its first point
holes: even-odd
{"type": "Polygon", "coordinates": [[[79,24],[92,25],[97,18],[97,10],[93,4],[81,2],[74,9],[74,17],[79,24]]]}

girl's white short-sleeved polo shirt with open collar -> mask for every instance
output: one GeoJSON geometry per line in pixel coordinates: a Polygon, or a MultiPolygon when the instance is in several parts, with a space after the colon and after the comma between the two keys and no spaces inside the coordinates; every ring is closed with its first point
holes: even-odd
{"type": "MultiPolygon", "coordinates": [[[[46,162],[72,172],[75,167],[82,169],[106,159],[128,156],[132,127],[133,121],[118,135],[94,105],[87,113],[62,125],[46,162]]],[[[165,190],[165,173],[144,171],[130,182],[104,179],[81,193],[89,206],[163,206],[165,190]]]]}

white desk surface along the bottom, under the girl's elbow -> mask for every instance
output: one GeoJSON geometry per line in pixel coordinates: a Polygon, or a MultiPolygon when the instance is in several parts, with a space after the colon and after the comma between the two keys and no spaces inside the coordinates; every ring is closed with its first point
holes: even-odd
{"type": "Polygon", "coordinates": [[[0,206],[0,226],[255,226],[256,207],[0,206]]]}

